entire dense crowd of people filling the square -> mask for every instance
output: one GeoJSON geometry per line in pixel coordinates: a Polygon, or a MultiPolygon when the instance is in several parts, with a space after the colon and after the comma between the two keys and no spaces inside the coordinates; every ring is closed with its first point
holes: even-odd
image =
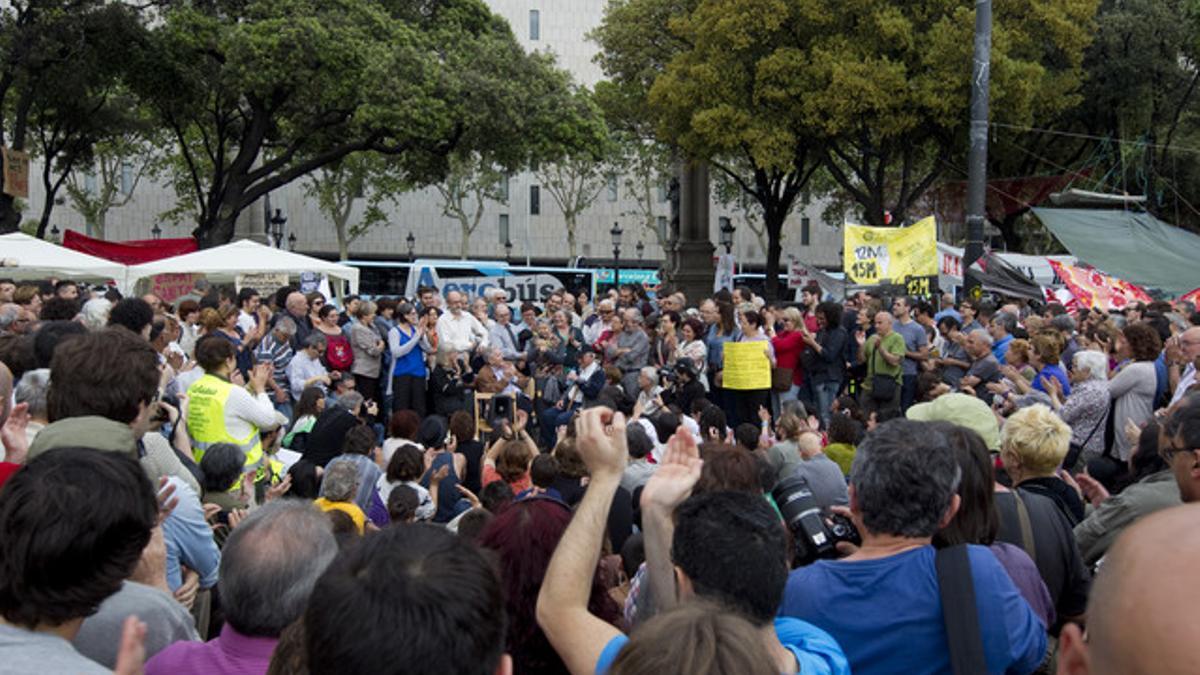
{"type": "Polygon", "coordinates": [[[1198,364],[1188,303],[0,279],[0,673],[1190,671],[1198,364]]]}

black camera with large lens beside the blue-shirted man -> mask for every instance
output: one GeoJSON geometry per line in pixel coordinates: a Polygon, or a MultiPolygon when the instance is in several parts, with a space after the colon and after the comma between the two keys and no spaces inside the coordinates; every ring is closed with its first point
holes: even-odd
{"type": "Polygon", "coordinates": [[[811,565],[820,558],[838,557],[838,542],[862,545],[863,538],[848,518],[828,513],[817,506],[808,478],[791,476],[770,491],[775,506],[796,539],[792,567],[811,565]]]}

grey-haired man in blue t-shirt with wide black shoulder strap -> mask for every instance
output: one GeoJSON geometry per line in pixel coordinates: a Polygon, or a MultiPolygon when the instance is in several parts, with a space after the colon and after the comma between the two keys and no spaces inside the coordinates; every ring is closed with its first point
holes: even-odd
{"type": "MultiPolygon", "coordinates": [[[[949,673],[935,532],[954,516],[960,470],[929,423],[895,419],[854,454],[850,508],[863,545],[842,560],[791,573],[782,616],[829,631],[856,674],[949,673]]],[[[967,546],[984,658],[990,673],[1031,673],[1046,627],[985,546],[967,546]]]]}

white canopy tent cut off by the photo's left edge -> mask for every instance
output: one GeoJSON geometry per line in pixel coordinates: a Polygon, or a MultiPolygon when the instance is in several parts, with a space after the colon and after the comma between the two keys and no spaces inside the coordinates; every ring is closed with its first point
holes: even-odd
{"type": "Polygon", "coordinates": [[[125,282],[121,263],[72,251],[22,232],[0,234],[0,277],[125,282]]]}

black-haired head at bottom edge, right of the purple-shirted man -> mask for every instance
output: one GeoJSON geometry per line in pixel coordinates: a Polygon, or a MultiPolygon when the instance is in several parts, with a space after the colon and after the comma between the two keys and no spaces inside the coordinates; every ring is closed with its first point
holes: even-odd
{"type": "Polygon", "coordinates": [[[389,527],[342,551],[304,621],[312,675],[512,670],[496,567],[434,525],[389,527]]]}

